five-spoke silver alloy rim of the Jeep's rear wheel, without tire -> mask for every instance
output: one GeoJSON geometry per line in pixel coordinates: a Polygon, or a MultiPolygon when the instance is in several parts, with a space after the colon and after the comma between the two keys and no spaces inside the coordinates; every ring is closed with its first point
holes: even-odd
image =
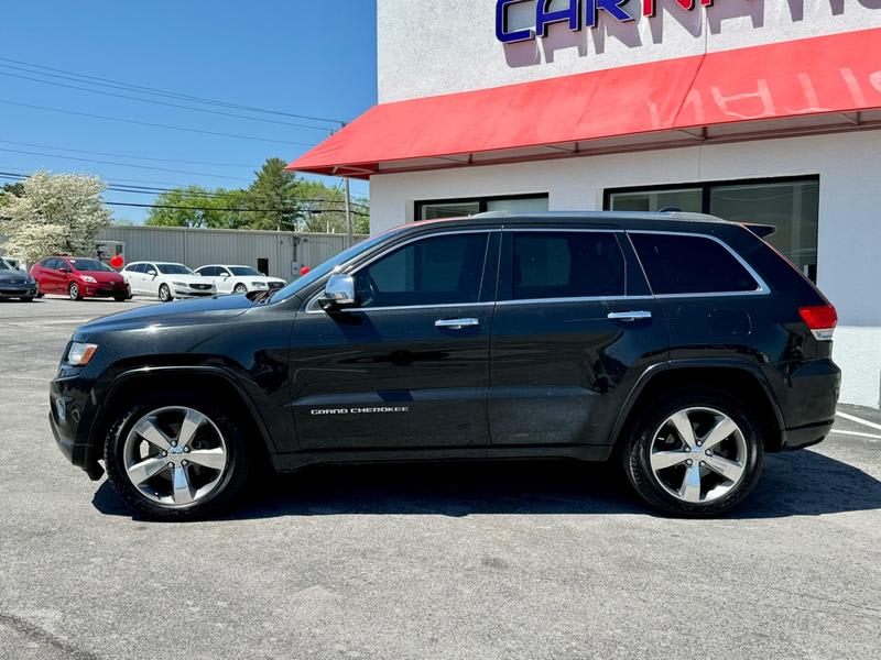
{"type": "Polygon", "coordinates": [[[719,499],[743,479],[747,440],[725,413],[685,408],[654,432],[649,462],[664,491],[687,504],[719,499]]]}

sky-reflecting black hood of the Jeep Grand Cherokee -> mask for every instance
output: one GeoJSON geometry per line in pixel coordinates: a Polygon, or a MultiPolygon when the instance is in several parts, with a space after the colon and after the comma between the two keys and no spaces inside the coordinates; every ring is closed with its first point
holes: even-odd
{"type": "Polygon", "coordinates": [[[244,296],[222,296],[219,298],[197,298],[175,300],[139,307],[101,317],[80,326],[77,336],[113,330],[131,330],[148,327],[167,328],[217,322],[244,314],[254,302],[244,296]]]}

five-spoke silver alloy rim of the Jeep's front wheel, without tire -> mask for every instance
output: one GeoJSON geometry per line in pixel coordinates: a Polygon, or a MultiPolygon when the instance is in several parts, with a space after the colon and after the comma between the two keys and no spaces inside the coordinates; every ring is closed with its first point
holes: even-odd
{"type": "Polygon", "coordinates": [[[126,475],[148,499],[184,506],[203,499],[220,483],[227,443],[206,415],[184,406],[141,417],[123,447],[126,475]]]}

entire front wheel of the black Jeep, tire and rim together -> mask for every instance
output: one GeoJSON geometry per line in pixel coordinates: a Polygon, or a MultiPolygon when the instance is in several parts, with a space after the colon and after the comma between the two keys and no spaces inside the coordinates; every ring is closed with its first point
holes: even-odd
{"type": "Polygon", "coordinates": [[[244,437],[221,407],[184,393],[135,403],[105,440],[107,475],[126,504],[191,520],[231,504],[248,479],[244,437]]]}

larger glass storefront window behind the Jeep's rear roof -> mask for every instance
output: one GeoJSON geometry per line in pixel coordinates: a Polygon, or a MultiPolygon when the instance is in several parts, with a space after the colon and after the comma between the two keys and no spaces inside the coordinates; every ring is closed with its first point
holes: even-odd
{"type": "Polygon", "coordinates": [[[736,222],[773,224],[766,241],[817,279],[819,178],[715,182],[606,191],[607,210],[704,212],[736,222]]]}

